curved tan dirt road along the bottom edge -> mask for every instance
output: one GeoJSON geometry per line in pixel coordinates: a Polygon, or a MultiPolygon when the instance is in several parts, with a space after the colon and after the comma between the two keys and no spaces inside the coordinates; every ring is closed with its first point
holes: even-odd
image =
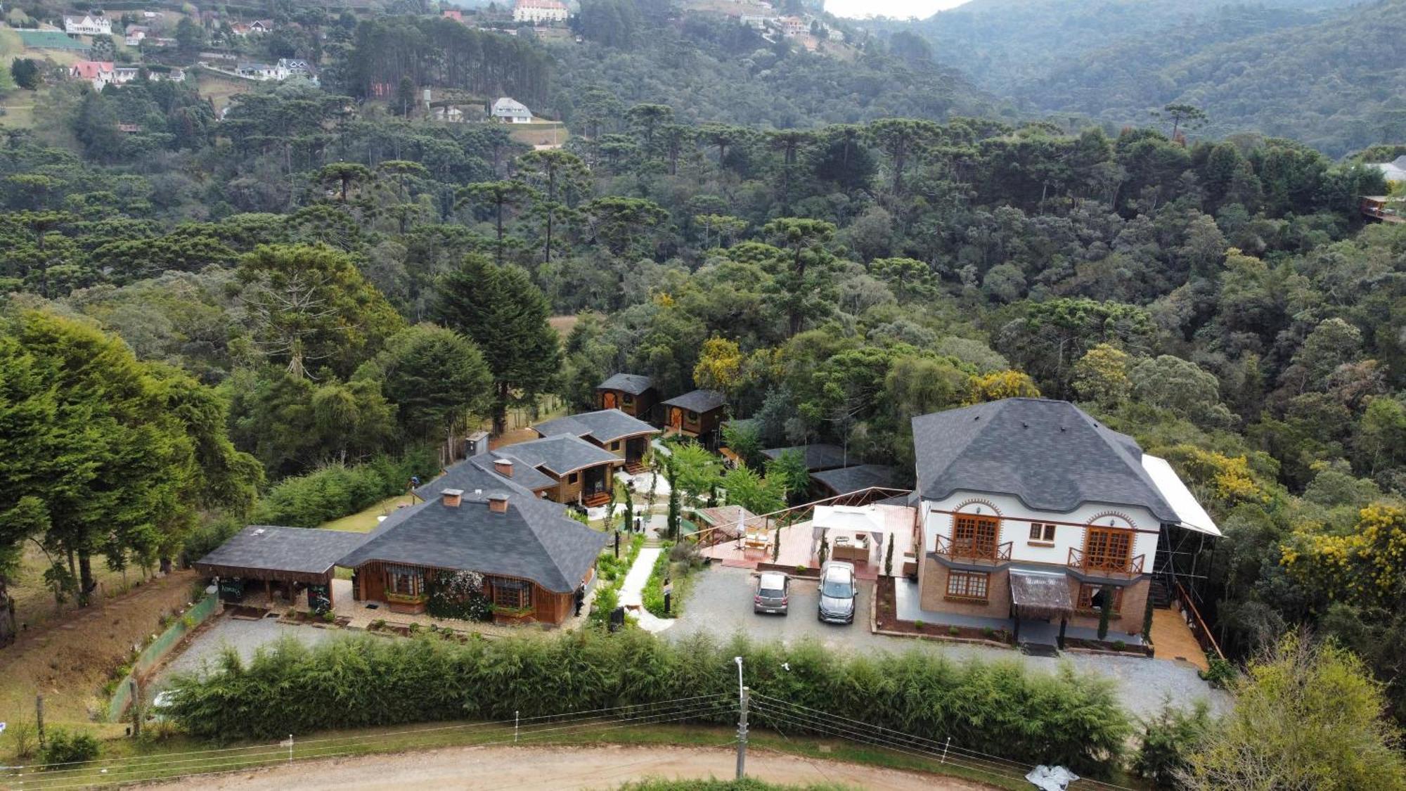
{"type": "MultiPolygon", "coordinates": [[[[347,790],[510,790],[616,788],[645,777],[727,778],[735,753],[709,747],[450,747],[394,756],[361,756],[299,761],[266,771],[198,777],[159,788],[280,788],[287,791],[347,790]]],[[[807,760],[754,750],[747,774],[786,784],[838,784],[893,791],[979,791],[990,788],[934,774],[807,760]]]]}

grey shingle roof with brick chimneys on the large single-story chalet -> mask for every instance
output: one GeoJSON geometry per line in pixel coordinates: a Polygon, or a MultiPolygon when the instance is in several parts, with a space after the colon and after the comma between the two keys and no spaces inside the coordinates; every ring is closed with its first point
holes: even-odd
{"type": "Polygon", "coordinates": [[[519,577],[569,593],[596,562],[606,535],[562,515],[561,507],[509,493],[495,514],[485,494],[465,493],[457,508],[436,498],[388,517],[337,564],[371,560],[519,577]]]}

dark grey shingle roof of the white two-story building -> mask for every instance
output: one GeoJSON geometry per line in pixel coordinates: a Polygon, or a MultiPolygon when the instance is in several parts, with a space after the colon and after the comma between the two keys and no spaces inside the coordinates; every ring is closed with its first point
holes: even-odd
{"type": "Polygon", "coordinates": [[[918,493],[1015,495],[1067,514],[1084,502],[1142,505],[1178,522],[1142,466],[1142,448],[1069,401],[1005,398],[912,418],[918,493]]]}

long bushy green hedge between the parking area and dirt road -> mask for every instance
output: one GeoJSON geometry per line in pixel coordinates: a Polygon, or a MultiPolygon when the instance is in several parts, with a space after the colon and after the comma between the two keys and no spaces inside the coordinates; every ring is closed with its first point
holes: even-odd
{"type": "Polygon", "coordinates": [[[308,647],[290,636],[249,663],[228,650],[204,676],[176,678],[169,712],[190,733],[217,740],[512,719],[515,711],[540,716],[735,694],[734,656],[745,657],[755,692],[1080,774],[1107,774],[1132,732],[1112,684],[1069,667],[1047,674],[1015,662],[957,663],[918,652],[848,656],[815,642],[742,636],[666,642],[634,629],[467,645],[359,636],[308,647]]]}

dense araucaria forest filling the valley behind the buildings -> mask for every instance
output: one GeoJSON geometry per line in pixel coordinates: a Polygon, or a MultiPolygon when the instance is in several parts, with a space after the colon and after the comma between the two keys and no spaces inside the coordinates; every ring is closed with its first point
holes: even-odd
{"type": "Polygon", "coordinates": [[[576,48],[366,20],[322,87],[222,118],[191,84],[52,86],[0,141],[0,573],[34,538],[82,595],[94,557],[172,559],[318,470],[404,480],[612,372],[724,390],[756,418],[730,441],[900,469],[911,417],[1042,394],[1219,519],[1208,612],[1236,656],[1308,624],[1406,712],[1406,228],[1362,227],[1376,170],[981,117],[921,58],[648,6],[586,0],[576,48]],[[572,137],[531,151],[373,89],[406,80],[550,97],[572,137]],[[73,495],[94,480],[117,519],[73,495]]]}

